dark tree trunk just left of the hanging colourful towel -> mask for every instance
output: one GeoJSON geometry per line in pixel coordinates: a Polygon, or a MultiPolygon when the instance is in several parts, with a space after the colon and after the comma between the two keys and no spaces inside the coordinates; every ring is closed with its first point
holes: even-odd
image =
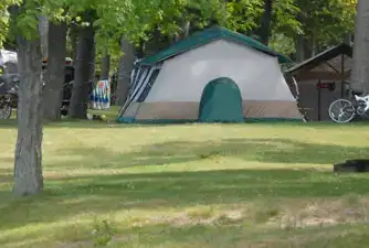
{"type": "Polygon", "coordinates": [[[75,62],[75,80],[71,97],[68,116],[86,119],[88,94],[95,57],[95,30],[93,25],[81,29],[75,62]]]}

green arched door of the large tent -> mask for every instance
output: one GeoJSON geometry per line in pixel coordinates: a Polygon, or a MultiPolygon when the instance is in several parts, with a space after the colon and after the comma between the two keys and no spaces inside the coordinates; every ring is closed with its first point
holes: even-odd
{"type": "Polygon", "coordinates": [[[199,121],[243,122],[241,91],[231,78],[219,77],[204,87],[199,121]]]}

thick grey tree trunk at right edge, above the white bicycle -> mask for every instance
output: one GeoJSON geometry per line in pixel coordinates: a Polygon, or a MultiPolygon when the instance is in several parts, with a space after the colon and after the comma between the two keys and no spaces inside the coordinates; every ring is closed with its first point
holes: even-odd
{"type": "Polygon", "coordinates": [[[369,1],[359,0],[357,11],[350,86],[369,94],[369,1]]]}

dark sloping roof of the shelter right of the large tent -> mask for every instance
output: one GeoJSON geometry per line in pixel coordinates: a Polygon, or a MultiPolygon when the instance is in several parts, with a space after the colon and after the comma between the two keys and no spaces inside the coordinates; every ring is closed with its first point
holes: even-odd
{"type": "Polygon", "coordinates": [[[291,68],[286,69],[285,73],[294,74],[301,69],[312,69],[314,67],[319,66],[321,62],[328,62],[333,58],[337,57],[338,55],[346,55],[348,57],[352,57],[352,47],[346,43],[333,46],[316,56],[313,56],[297,65],[292,66],[291,68]]]}

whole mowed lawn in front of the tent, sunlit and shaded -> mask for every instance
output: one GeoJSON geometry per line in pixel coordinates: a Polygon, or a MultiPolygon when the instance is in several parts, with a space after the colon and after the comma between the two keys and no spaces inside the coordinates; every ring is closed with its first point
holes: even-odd
{"type": "Polygon", "coordinates": [[[0,247],[367,247],[365,125],[46,125],[44,193],[11,196],[0,123],[0,247]]]}

